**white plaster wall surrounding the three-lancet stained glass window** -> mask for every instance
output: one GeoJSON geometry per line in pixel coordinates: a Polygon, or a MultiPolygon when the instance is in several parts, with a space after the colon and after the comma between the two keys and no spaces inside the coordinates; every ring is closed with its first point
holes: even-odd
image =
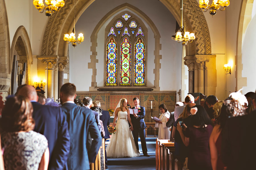
{"type": "MultiPolygon", "coordinates": [[[[91,86],[91,75],[92,69],[88,69],[88,62],[90,62],[90,36],[98,24],[98,22],[103,18],[106,13],[115,8],[118,5],[127,3],[124,0],[107,0],[107,1],[94,1],[81,15],[76,23],[76,34],[82,32],[84,33],[84,42],[77,45],[75,50],[71,50],[70,46],[70,82],[77,86],[77,91],[89,91],[91,86]],[[115,4],[115,5],[113,5],[115,4]],[[97,12],[95,12],[97,9],[97,12]],[[93,14],[93,15],[92,15],[93,14]],[[74,55],[75,52],[75,55],[74,55]]],[[[161,38],[160,43],[162,44],[162,50],[160,50],[160,55],[162,55],[162,60],[160,60],[160,90],[170,91],[179,90],[177,88],[181,87],[181,76],[177,80],[177,73],[181,72],[181,65],[177,65],[176,58],[181,58],[181,44],[170,39],[172,35],[175,34],[175,19],[170,13],[170,11],[160,2],[154,0],[130,0],[128,3],[134,5],[135,7],[142,10],[156,25],[158,31],[160,32],[161,38]],[[177,82],[179,82],[180,87],[177,87],[177,82]]],[[[127,10],[127,9],[126,9],[127,10]]],[[[108,22],[111,20],[110,18],[108,22]]],[[[104,85],[104,59],[105,47],[104,47],[104,30],[108,22],[100,29],[97,38],[97,86],[104,85]]],[[[146,25],[146,23],[144,23],[146,25]]],[[[148,25],[146,25],[148,27],[148,25]]],[[[154,64],[154,49],[155,40],[154,34],[150,27],[148,27],[148,58],[147,58],[147,85],[154,85],[154,74],[153,69],[154,64]]],[[[179,61],[180,62],[180,61],[179,61]]],[[[181,73],[178,73],[181,74],[181,73]]]]}

